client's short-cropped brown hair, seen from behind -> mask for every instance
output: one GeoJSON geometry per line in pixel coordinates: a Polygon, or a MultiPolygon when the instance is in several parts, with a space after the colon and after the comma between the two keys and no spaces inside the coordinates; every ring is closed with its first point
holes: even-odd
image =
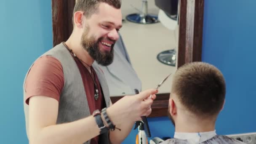
{"type": "Polygon", "coordinates": [[[192,62],[177,69],[172,93],[189,112],[199,117],[211,117],[221,111],[226,84],[222,73],[213,65],[192,62]]]}

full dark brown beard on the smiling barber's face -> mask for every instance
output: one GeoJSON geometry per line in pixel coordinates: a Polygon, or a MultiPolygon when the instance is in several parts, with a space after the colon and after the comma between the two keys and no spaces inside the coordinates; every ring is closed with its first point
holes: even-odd
{"type": "Polygon", "coordinates": [[[113,62],[114,59],[114,51],[113,47],[115,44],[111,45],[110,51],[100,51],[99,50],[99,43],[101,43],[101,40],[104,39],[104,37],[100,37],[98,40],[95,40],[95,37],[88,37],[88,31],[89,27],[85,29],[83,32],[83,35],[81,37],[81,44],[85,51],[89,53],[89,55],[97,61],[98,64],[102,66],[108,66],[113,62]]]}

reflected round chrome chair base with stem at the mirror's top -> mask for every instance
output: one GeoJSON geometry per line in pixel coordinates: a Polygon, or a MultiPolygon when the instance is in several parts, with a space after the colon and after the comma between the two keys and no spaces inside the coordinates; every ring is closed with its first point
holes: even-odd
{"type": "Polygon", "coordinates": [[[128,21],[139,24],[154,24],[159,22],[157,16],[150,15],[148,13],[147,0],[142,0],[142,7],[139,10],[140,13],[133,13],[126,16],[128,21]]]}

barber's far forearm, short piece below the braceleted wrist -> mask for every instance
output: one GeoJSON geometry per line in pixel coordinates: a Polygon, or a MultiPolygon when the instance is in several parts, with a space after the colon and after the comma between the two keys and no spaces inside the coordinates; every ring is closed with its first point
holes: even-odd
{"type": "Polygon", "coordinates": [[[109,139],[112,144],[121,144],[122,141],[129,135],[133,128],[134,122],[124,121],[121,125],[116,125],[121,131],[115,129],[115,131],[110,131],[109,139]]]}

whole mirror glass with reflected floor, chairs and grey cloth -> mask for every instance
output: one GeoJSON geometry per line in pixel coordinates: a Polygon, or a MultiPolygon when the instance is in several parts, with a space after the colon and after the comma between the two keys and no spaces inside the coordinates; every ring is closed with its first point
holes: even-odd
{"type": "MultiPolygon", "coordinates": [[[[114,47],[114,61],[101,67],[110,96],[155,88],[176,71],[178,0],[123,0],[123,27],[114,47]]],[[[169,93],[169,77],[159,93],[169,93]]]]}

